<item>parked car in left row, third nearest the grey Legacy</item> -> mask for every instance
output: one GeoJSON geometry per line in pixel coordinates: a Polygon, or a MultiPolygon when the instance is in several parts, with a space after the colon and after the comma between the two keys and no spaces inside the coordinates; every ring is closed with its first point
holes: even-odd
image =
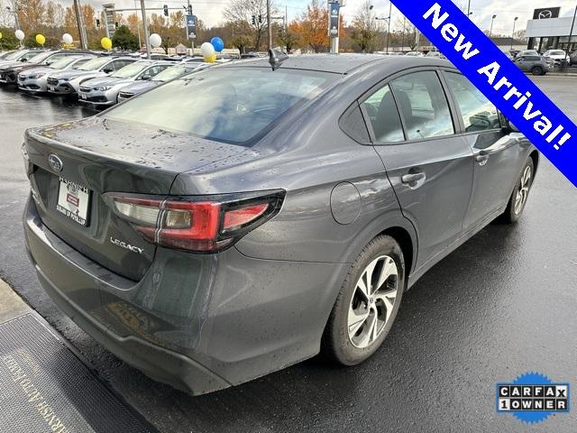
{"type": "Polygon", "coordinates": [[[107,77],[137,60],[132,57],[98,57],[88,60],[78,69],[50,74],[47,78],[48,91],[52,95],[77,96],[78,88],[85,81],[96,77],[107,77]]]}

